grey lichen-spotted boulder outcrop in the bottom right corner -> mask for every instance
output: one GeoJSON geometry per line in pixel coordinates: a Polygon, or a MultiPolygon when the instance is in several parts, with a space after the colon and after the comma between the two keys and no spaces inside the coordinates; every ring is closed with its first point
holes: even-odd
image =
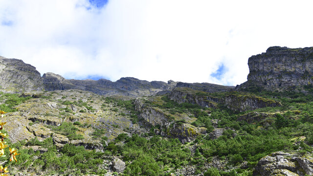
{"type": "Polygon", "coordinates": [[[313,175],[312,154],[275,152],[260,159],[253,176],[313,175]]]}

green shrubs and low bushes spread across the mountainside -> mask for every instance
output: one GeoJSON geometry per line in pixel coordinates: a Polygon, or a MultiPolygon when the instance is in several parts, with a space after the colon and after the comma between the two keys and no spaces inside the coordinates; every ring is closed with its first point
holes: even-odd
{"type": "MultiPolygon", "coordinates": [[[[306,93],[301,91],[270,92],[261,88],[251,88],[246,92],[192,91],[197,96],[217,98],[229,95],[253,96],[282,103],[280,107],[266,107],[244,112],[234,112],[221,105],[217,105],[218,108],[214,109],[202,108],[190,103],[179,104],[170,100],[166,95],[145,97],[143,100],[147,106],[166,112],[177,126],[190,123],[195,127],[206,128],[206,134],[200,134],[194,141],[181,143],[177,138],[166,136],[168,129],[164,126],[149,126],[150,130],[137,132],[130,130],[131,127],[126,130],[121,123],[105,124],[112,131],[129,132],[121,133],[114,139],[103,126],[104,123],[99,126],[92,124],[92,130],[89,121],[79,119],[74,123],[63,122],[59,127],[47,127],[55,133],[67,136],[70,140],[83,138],[79,134],[79,129],[89,130],[90,139],[103,145],[102,152],[85,150],[82,146],[70,144],[57,150],[52,138],[47,138],[42,142],[32,139],[28,142],[12,144],[20,151],[21,162],[9,165],[29,172],[36,172],[42,168],[47,174],[101,175],[107,172],[101,169],[103,160],[112,160],[112,156],[118,156],[126,163],[126,169],[119,175],[125,176],[168,176],[183,167],[194,167],[195,174],[203,173],[204,176],[249,176],[252,175],[260,158],[273,152],[297,151],[301,154],[313,151],[313,88],[307,86],[304,89],[306,93]],[[212,139],[208,133],[216,128],[223,128],[224,132],[220,137],[212,139]],[[155,133],[155,130],[165,135],[156,135],[158,132],[155,133]],[[35,152],[29,146],[41,146],[47,149],[47,152],[40,153],[39,150],[35,152]],[[222,167],[209,167],[208,163],[216,160],[221,161],[222,167]],[[246,163],[246,167],[240,169],[243,162],[246,163]]],[[[186,91],[191,90],[186,88],[186,91]]],[[[2,93],[0,95],[2,105],[12,111],[15,110],[14,106],[30,98],[19,97],[18,94],[9,96],[2,93]]],[[[93,103],[98,102],[94,97],[89,100],[93,103]]],[[[78,110],[82,113],[94,111],[82,100],[72,102],[63,99],[59,104],[65,105],[58,109],[59,114],[65,117],[73,112],[68,105],[81,107],[78,110]]],[[[138,119],[139,112],[134,110],[133,100],[102,97],[100,105],[92,104],[100,110],[107,110],[105,113],[108,116],[128,118],[133,123],[142,124],[138,119]]],[[[98,111],[90,116],[96,116],[97,113],[98,111]]],[[[103,118],[103,114],[97,117],[103,118]]],[[[45,115],[48,116],[49,113],[45,115]]],[[[28,125],[35,123],[37,122],[31,122],[28,125]]],[[[169,124],[169,127],[173,127],[173,124],[169,124]]]]}

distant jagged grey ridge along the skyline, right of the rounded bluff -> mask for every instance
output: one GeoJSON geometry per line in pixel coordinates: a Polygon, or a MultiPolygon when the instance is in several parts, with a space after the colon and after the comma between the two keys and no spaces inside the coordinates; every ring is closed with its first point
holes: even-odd
{"type": "Polygon", "coordinates": [[[143,81],[136,78],[126,77],[112,82],[106,79],[95,80],[67,80],[61,75],[45,73],[43,83],[46,90],[81,89],[100,95],[123,95],[136,97],[139,95],[152,95],[158,91],[173,88],[175,85],[161,81],[143,81]]]}

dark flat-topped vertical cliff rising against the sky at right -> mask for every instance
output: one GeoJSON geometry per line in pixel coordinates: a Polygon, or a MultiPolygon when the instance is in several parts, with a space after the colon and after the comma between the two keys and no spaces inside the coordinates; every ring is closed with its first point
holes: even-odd
{"type": "Polygon", "coordinates": [[[241,88],[260,85],[268,89],[286,89],[313,83],[313,47],[273,46],[266,53],[248,60],[247,82],[241,88]]]}

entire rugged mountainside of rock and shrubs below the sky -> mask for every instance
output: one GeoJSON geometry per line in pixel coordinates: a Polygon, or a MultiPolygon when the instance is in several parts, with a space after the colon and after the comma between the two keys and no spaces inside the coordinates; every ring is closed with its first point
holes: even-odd
{"type": "MultiPolygon", "coordinates": [[[[269,47],[248,81],[67,80],[0,58],[11,175],[313,175],[312,48],[269,47]]],[[[8,155],[6,151],[6,155],[8,155]]]]}

